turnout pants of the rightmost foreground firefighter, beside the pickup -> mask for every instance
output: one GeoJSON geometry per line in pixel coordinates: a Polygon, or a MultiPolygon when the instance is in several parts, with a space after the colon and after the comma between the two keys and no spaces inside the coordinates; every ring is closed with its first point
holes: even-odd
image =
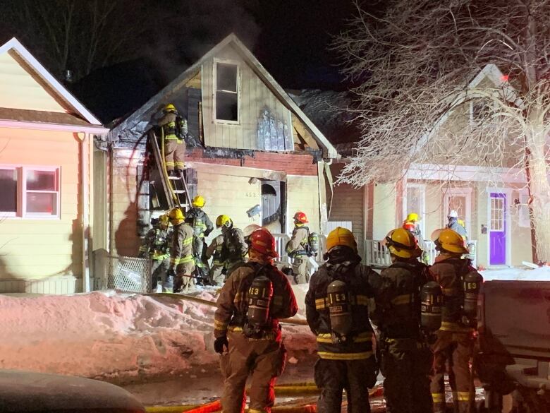
{"type": "Polygon", "coordinates": [[[437,332],[434,345],[434,368],[432,398],[434,413],[445,412],[445,372],[448,374],[449,385],[453,390],[455,412],[468,413],[470,394],[473,394],[472,371],[470,358],[473,354],[474,338],[471,333],[454,333],[452,331],[437,332]]]}

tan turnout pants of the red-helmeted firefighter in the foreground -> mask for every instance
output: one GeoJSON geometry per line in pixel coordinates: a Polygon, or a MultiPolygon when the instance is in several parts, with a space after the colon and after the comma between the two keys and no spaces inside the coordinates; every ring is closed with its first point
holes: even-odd
{"type": "Polygon", "coordinates": [[[250,413],[271,412],[275,400],[275,378],[281,376],[286,350],[276,340],[250,340],[242,332],[228,331],[229,352],[220,358],[224,376],[221,407],[224,413],[240,413],[245,409],[245,384],[250,383],[250,413]]]}

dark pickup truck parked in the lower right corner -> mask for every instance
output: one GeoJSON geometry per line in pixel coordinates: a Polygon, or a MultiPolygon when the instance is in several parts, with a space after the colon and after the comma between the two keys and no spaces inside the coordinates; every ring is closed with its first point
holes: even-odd
{"type": "Polygon", "coordinates": [[[484,282],[478,318],[484,411],[501,412],[512,393],[512,412],[550,412],[550,282],[484,282]]]}

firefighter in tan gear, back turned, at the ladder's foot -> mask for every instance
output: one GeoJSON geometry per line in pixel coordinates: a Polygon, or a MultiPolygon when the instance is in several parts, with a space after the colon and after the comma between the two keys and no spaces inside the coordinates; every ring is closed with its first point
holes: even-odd
{"type": "Polygon", "coordinates": [[[169,218],[173,225],[173,236],[168,275],[173,277],[173,292],[181,292],[192,285],[195,270],[193,228],[185,223],[185,215],[180,208],[172,208],[169,218]]]}

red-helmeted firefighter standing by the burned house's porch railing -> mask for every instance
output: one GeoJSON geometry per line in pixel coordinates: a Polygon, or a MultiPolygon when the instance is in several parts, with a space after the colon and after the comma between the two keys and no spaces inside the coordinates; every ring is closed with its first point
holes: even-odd
{"type": "Polygon", "coordinates": [[[309,255],[310,229],[305,226],[309,222],[305,213],[294,214],[294,229],[291,240],[286,244],[286,253],[292,258],[292,274],[296,284],[309,281],[307,273],[307,256],[309,255]]]}

